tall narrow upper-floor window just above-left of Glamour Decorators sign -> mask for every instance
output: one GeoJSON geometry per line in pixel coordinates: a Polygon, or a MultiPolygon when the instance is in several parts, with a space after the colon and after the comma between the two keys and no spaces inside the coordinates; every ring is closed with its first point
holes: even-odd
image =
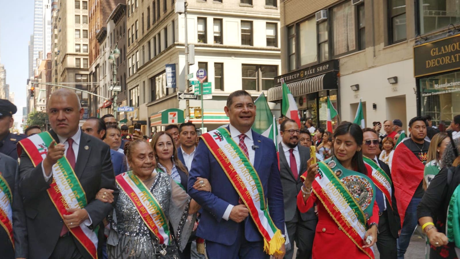
{"type": "MultiPolygon", "coordinates": [[[[438,2],[438,0],[431,1],[438,2]]],[[[445,2],[445,1],[444,1],[445,2]]],[[[388,0],[389,13],[389,43],[396,43],[406,39],[406,1],[388,0]]]]}

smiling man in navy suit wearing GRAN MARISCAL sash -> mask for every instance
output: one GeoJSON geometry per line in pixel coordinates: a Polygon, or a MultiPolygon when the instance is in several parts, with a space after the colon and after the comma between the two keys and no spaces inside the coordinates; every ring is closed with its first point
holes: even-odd
{"type": "MultiPolygon", "coordinates": [[[[284,237],[284,203],[275,145],[272,140],[251,130],[256,107],[246,91],[231,93],[224,111],[230,119],[226,128],[230,136],[226,132],[225,138],[233,147],[239,145],[233,150],[240,154],[241,161],[248,161],[245,164],[247,171],[254,170],[258,175],[258,182],[265,194],[261,197],[270,208],[268,218],[271,218],[280,237],[284,237]]],[[[240,197],[232,184],[234,182],[230,181],[221,166],[231,158],[227,156],[218,161],[216,153],[206,145],[207,140],[212,141],[216,137],[213,134],[214,131],[201,136],[189,172],[189,195],[203,208],[196,235],[206,240],[208,258],[269,259],[270,255],[264,251],[264,238],[267,239],[259,232],[245,205],[249,206],[251,200],[248,202],[244,195],[240,197]],[[193,188],[197,177],[208,179],[212,191],[193,188]],[[244,202],[242,199],[245,199],[244,202]]],[[[257,218],[257,215],[253,216],[257,218]]],[[[284,240],[276,250],[276,253],[273,252],[274,258],[283,258],[284,240]]]]}

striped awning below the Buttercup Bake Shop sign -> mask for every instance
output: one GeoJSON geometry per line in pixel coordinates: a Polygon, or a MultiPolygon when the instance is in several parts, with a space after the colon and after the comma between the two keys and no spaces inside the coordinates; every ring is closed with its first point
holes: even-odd
{"type": "MultiPolygon", "coordinates": [[[[299,80],[296,82],[287,83],[289,91],[293,96],[299,96],[304,94],[315,93],[324,89],[337,89],[337,84],[334,86],[326,86],[324,83],[324,77],[328,75],[322,74],[317,77],[311,77],[303,80],[299,80]]],[[[267,92],[267,100],[268,101],[277,101],[283,98],[283,88],[282,86],[277,86],[268,89],[267,92]]]]}

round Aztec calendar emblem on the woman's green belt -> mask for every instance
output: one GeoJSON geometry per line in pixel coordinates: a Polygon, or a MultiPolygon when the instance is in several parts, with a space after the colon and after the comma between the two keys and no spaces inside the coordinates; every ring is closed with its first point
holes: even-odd
{"type": "Polygon", "coordinates": [[[357,204],[364,211],[372,202],[374,190],[371,183],[364,177],[351,175],[340,179],[351,193],[357,204]]]}

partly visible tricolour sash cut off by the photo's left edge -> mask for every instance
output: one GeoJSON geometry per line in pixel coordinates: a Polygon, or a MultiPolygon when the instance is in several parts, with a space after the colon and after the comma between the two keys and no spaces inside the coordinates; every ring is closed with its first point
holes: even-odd
{"type": "Polygon", "coordinates": [[[11,188],[0,172],[0,225],[5,229],[14,247],[12,203],[11,188]]]}

